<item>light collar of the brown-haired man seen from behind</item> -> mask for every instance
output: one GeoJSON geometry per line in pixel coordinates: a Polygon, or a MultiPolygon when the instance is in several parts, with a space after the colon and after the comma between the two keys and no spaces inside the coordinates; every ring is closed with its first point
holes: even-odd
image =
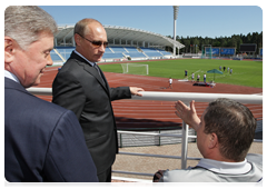
{"type": "Polygon", "coordinates": [[[251,169],[251,165],[247,162],[247,159],[241,162],[226,162],[204,158],[198,162],[197,167],[202,167],[218,173],[230,175],[246,173],[251,169]]]}

